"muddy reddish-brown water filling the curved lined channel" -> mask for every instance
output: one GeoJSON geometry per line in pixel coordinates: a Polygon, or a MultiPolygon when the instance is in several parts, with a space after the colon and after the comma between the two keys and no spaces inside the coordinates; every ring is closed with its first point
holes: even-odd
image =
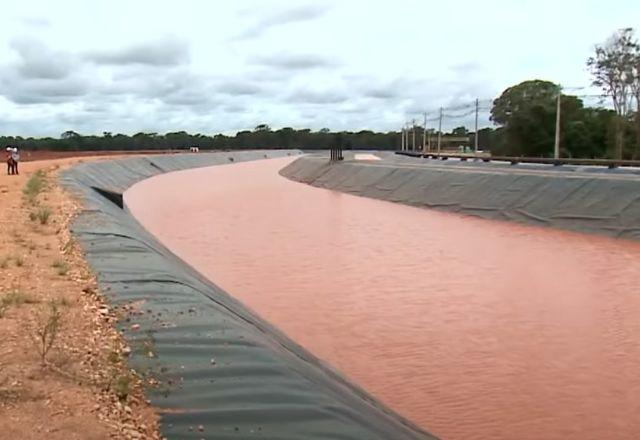
{"type": "Polygon", "coordinates": [[[274,159],[125,194],[174,253],[444,439],[640,438],[640,244],[291,182],[274,159]]]}

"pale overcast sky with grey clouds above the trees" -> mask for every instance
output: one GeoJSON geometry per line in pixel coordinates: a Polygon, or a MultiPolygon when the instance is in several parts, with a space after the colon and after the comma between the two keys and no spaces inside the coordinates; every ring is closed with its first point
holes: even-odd
{"type": "Polygon", "coordinates": [[[476,98],[484,126],[521,81],[589,90],[594,46],[638,18],[637,0],[6,2],[0,135],[387,131],[441,106],[472,128],[476,98]]]}

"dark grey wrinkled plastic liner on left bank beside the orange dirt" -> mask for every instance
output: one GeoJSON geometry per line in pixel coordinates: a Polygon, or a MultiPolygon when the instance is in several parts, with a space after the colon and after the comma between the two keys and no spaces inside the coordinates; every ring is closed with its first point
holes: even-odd
{"type": "Polygon", "coordinates": [[[112,306],[128,311],[119,326],[132,347],[131,365],[158,381],[149,393],[162,433],[218,440],[434,438],[200,276],[122,206],[129,186],[160,173],[299,153],[135,157],[81,164],[61,176],[84,199],[72,232],[100,289],[112,306]]]}

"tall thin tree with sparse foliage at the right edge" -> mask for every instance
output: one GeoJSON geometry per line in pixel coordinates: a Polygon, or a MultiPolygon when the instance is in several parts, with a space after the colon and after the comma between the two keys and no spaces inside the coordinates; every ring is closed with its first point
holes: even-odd
{"type": "Polygon", "coordinates": [[[622,158],[624,150],[624,125],[633,103],[634,65],[637,61],[638,43],[633,29],[620,29],[602,45],[597,45],[595,55],[587,60],[593,75],[593,85],[610,96],[616,111],[615,157],[622,158]]]}

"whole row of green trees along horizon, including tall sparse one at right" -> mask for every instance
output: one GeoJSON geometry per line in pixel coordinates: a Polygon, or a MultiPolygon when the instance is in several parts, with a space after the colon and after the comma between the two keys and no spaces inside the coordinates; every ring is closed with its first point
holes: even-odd
{"type": "MultiPolygon", "coordinates": [[[[548,157],[553,154],[556,106],[560,97],[561,155],[564,157],[640,159],[640,44],[631,28],[614,33],[595,47],[586,65],[593,85],[610,98],[613,108],[588,107],[579,96],[564,94],[550,81],[530,80],[507,88],[493,101],[491,121],[495,127],[478,130],[478,143],[495,155],[548,157]]],[[[414,127],[417,139],[423,128],[414,127]]],[[[431,134],[434,133],[430,130],[431,134]]],[[[476,133],[457,127],[449,134],[476,133]]],[[[197,146],[200,149],[400,149],[399,131],[332,132],[285,127],[272,130],[260,124],[233,136],[189,134],[185,131],[137,133],[129,136],[104,132],[102,136],[66,131],[60,138],[0,136],[0,143],[28,150],[170,150],[197,146]]],[[[419,143],[419,142],[417,142],[419,143]]]]}

